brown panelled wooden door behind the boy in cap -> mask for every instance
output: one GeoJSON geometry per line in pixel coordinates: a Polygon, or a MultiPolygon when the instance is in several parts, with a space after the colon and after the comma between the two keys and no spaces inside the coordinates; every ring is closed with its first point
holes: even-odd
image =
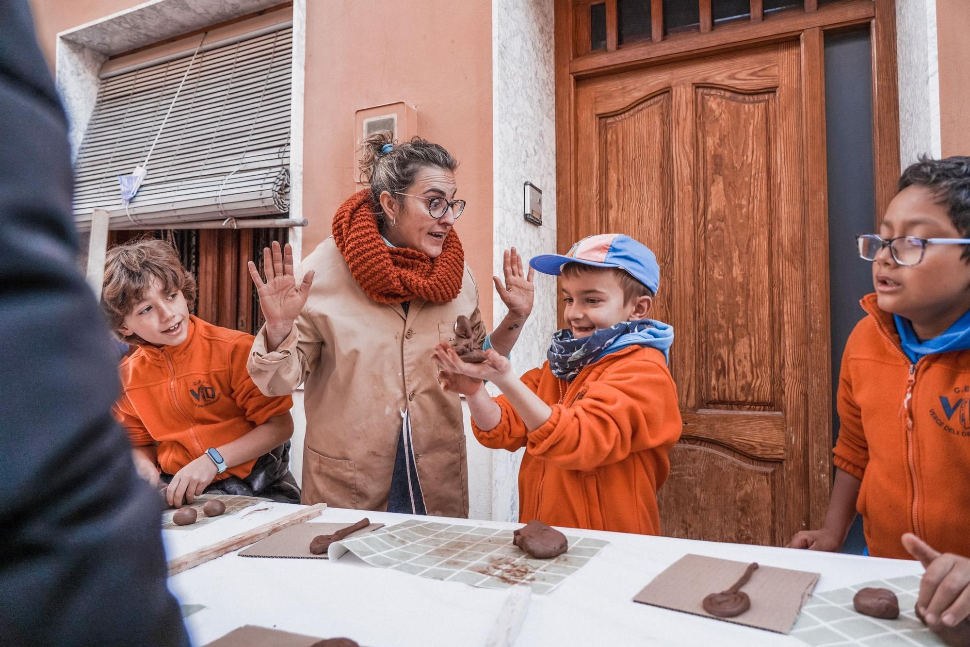
{"type": "Polygon", "coordinates": [[[806,271],[803,186],[824,168],[805,167],[799,57],[775,44],[575,86],[574,237],[653,249],[652,317],[674,326],[667,535],[781,545],[809,521],[809,445],[829,438],[808,428],[806,304],[827,277],[806,271]]]}

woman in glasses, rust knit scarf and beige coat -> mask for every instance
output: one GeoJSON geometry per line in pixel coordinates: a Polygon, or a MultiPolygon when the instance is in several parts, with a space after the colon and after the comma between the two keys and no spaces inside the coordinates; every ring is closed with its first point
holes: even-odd
{"type": "Polygon", "coordinates": [[[340,206],[302,283],[288,245],[264,251],[265,282],[249,263],[266,317],[249,373],[266,394],[305,383],[304,503],[468,516],[461,404],[440,389],[430,358],[454,341],[462,315],[477,341],[507,355],[532,311],[533,285],[532,270],[526,277],[515,250],[506,252],[505,285],[495,284],[509,312],[486,339],[452,228],[465,208],[456,167],[437,144],[395,145],[389,131],[376,133],[361,160],[368,188],[340,206]]]}

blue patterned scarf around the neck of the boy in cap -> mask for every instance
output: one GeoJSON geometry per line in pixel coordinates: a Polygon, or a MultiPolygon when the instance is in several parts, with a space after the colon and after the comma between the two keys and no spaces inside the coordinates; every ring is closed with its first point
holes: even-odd
{"type": "Polygon", "coordinates": [[[549,358],[549,369],[553,375],[572,382],[588,364],[611,353],[634,345],[647,346],[661,351],[666,359],[672,343],[673,326],[643,319],[599,328],[592,335],[579,339],[573,337],[572,330],[568,328],[559,330],[552,336],[546,357],[549,358]]]}

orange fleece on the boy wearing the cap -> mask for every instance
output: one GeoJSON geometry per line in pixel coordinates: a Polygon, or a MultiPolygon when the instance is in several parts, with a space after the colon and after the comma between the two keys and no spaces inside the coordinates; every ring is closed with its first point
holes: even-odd
{"type": "Polygon", "coordinates": [[[504,395],[501,422],[478,441],[526,448],[519,468],[519,521],[550,526],[660,534],[657,490],[670,472],[667,453],[683,424],[663,353],[634,346],[583,368],[571,383],[533,368],[522,381],[552,407],[528,431],[504,395]]]}

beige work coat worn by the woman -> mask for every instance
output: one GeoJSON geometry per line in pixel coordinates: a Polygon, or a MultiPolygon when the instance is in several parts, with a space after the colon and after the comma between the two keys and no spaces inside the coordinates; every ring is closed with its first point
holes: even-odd
{"type": "Polygon", "coordinates": [[[469,479],[458,395],[443,392],[431,358],[453,342],[459,315],[478,341],[485,327],[468,265],[448,303],[372,301],[357,285],[333,237],[303,263],[314,270],[307,305],[289,336],[267,350],[266,328],[253,342],[248,369],[267,395],[305,384],[307,439],[303,503],[386,510],[403,412],[409,410],[414,458],[430,515],[467,517],[469,479]]]}

